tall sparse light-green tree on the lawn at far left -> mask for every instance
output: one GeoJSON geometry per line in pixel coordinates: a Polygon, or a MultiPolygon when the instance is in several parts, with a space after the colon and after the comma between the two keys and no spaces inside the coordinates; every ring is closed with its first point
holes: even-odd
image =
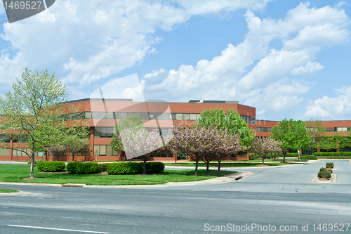
{"type": "MultiPolygon", "coordinates": [[[[10,91],[0,97],[1,134],[25,136],[31,150],[28,154],[31,167],[29,177],[34,177],[34,152],[57,144],[65,138],[67,122],[62,116],[77,112],[74,105],[62,105],[68,100],[67,87],[55,74],[25,70],[22,79],[13,83],[10,91]]],[[[74,122],[70,123],[72,126],[74,122]]],[[[77,122],[79,125],[79,123],[77,122]]],[[[78,126],[77,125],[77,126],[78,126]]],[[[9,148],[2,143],[1,147],[9,148]]]]}

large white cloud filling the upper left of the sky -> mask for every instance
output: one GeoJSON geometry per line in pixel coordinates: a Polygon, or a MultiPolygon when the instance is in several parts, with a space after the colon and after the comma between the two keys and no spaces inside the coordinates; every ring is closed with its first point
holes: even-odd
{"type": "MultiPolygon", "coordinates": [[[[15,51],[8,58],[10,67],[19,71],[26,66],[48,67],[79,93],[77,87],[117,74],[155,53],[153,45],[161,41],[153,36],[156,30],[172,30],[197,14],[262,9],[266,2],[58,0],[47,11],[20,23],[5,23],[1,37],[15,51]]],[[[7,69],[1,66],[0,70],[7,69]]],[[[0,79],[7,80],[3,74],[0,79]]]]}

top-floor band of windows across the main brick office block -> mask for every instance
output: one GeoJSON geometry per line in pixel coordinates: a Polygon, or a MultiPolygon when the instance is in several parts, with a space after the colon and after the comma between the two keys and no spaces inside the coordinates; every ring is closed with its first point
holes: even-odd
{"type": "MultiPolygon", "coordinates": [[[[200,114],[187,113],[147,113],[147,112],[80,112],[62,115],[64,119],[124,119],[131,115],[138,115],[140,119],[150,120],[197,120],[200,114]]],[[[241,115],[246,123],[255,124],[256,117],[241,115]]]]}

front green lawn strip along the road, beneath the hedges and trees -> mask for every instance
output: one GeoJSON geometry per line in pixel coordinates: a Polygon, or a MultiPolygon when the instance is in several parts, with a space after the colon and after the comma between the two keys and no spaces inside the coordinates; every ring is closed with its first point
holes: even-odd
{"type": "Polygon", "coordinates": [[[38,179],[22,181],[29,177],[29,167],[25,165],[0,164],[0,181],[22,183],[85,183],[87,185],[119,186],[119,185],[149,185],[163,184],[167,182],[202,181],[209,178],[232,174],[234,171],[210,171],[199,170],[199,176],[194,175],[194,169],[171,171],[165,170],[161,174],[152,175],[92,175],[92,174],[53,174],[38,173],[34,168],[34,177],[38,179]]]}

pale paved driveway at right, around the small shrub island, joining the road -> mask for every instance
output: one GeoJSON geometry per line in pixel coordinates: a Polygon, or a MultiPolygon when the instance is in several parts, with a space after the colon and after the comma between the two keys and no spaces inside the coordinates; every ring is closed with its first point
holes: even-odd
{"type": "MultiPolygon", "coordinates": [[[[234,170],[234,169],[231,169],[234,170]]],[[[211,186],[192,186],[180,190],[225,190],[257,193],[351,193],[351,163],[349,160],[319,160],[309,164],[291,167],[236,168],[237,171],[251,171],[255,174],[232,183],[211,186]],[[336,183],[312,183],[326,162],[333,162],[336,183]]]]}

